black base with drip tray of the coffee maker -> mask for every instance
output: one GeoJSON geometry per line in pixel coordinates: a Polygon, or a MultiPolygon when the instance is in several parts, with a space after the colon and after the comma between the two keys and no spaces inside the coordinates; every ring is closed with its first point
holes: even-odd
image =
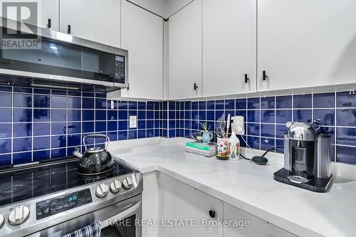
{"type": "Polygon", "coordinates": [[[273,179],[281,182],[283,184],[289,184],[292,186],[297,186],[302,189],[307,189],[309,191],[315,191],[318,193],[325,193],[329,190],[331,184],[333,184],[333,175],[329,179],[304,179],[301,180],[295,176],[291,176],[290,172],[284,168],[278,170],[278,172],[273,174],[273,179]]]}

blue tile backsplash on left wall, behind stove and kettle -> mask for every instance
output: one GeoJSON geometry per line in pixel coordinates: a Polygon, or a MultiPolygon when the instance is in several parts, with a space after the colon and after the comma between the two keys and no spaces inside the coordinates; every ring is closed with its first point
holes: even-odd
{"type": "MultiPolygon", "coordinates": [[[[162,102],[111,101],[105,93],[0,87],[0,166],[69,156],[82,139],[100,132],[110,140],[166,135],[162,102]],[[128,128],[137,115],[135,129],[128,128]]],[[[103,144],[89,139],[87,144],[103,144]]]]}

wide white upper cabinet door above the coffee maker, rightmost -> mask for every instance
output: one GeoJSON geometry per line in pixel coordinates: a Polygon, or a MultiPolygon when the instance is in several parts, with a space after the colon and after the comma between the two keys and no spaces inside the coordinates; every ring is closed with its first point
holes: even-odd
{"type": "Polygon", "coordinates": [[[355,83],[355,12],[355,0],[258,0],[258,90],[355,83]]]}

